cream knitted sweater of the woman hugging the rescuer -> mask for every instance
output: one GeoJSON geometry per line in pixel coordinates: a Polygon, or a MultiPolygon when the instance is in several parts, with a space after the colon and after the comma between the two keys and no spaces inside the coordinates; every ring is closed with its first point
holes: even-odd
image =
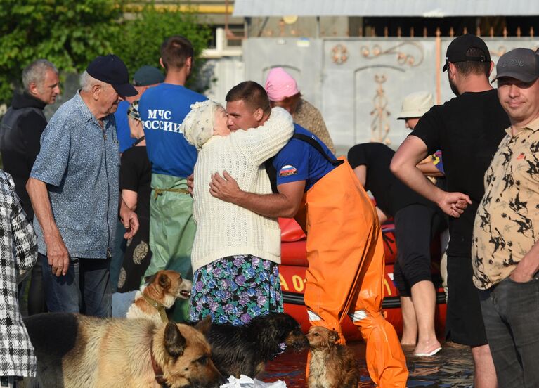
{"type": "Polygon", "coordinates": [[[290,140],[292,116],[273,108],[263,126],[213,136],[198,153],[193,188],[193,217],[197,233],[191,252],[193,271],[235,254],[252,254],[280,263],[280,228],[276,219],[212,197],[209,182],[226,170],[244,191],[271,193],[264,162],[290,140]]]}

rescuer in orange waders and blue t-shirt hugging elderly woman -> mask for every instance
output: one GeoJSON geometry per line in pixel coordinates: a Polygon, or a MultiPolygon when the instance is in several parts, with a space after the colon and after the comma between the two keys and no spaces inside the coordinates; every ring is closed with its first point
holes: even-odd
{"type": "MultiPolygon", "coordinates": [[[[249,101],[253,89],[259,93],[252,84],[258,85],[242,82],[226,96],[232,131],[258,127],[267,119],[249,101]]],[[[212,176],[210,192],[264,216],[295,216],[307,235],[304,299],[311,324],[336,330],[344,343],[341,323],[348,315],[367,343],[371,379],[382,388],[405,387],[405,356],[381,313],[382,233],[375,208],[350,165],[335,160],[316,136],[295,124],[294,136],[266,162],[266,170],[270,178],[276,177],[274,194],[244,192],[226,172],[212,176]]]]}

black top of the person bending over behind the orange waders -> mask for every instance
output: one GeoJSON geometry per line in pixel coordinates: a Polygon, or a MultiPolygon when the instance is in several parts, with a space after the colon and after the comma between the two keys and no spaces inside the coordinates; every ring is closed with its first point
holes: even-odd
{"type": "Polygon", "coordinates": [[[361,165],[367,167],[365,190],[370,190],[377,207],[385,214],[395,216],[403,207],[418,203],[434,205],[391,173],[389,164],[394,154],[394,150],[382,143],[358,144],[348,151],[348,162],[353,169],[361,165]]]}

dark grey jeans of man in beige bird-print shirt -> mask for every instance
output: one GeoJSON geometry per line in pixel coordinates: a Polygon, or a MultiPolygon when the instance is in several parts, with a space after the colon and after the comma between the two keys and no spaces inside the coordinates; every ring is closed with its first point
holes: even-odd
{"type": "Polygon", "coordinates": [[[539,387],[539,279],[479,290],[498,387],[539,387]]]}

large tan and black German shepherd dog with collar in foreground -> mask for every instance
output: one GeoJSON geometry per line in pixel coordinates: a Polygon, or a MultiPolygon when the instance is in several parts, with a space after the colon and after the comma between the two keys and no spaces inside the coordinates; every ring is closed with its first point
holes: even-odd
{"type": "Polygon", "coordinates": [[[204,334],[176,323],[70,313],[25,318],[44,388],[216,388],[204,334]]]}

